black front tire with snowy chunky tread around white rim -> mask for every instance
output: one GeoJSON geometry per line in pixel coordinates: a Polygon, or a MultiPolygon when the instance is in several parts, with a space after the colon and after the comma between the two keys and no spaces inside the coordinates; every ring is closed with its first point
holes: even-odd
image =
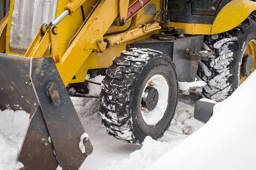
{"type": "Polygon", "coordinates": [[[151,49],[124,51],[114,58],[102,81],[102,125],[108,134],[129,143],[142,143],[147,135],[158,139],[174,117],[178,92],[177,74],[170,57],[151,49]],[[141,96],[147,81],[155,74],[164,76],[170,93],[163,118],[152,126],[143,121],[141,96]]]}

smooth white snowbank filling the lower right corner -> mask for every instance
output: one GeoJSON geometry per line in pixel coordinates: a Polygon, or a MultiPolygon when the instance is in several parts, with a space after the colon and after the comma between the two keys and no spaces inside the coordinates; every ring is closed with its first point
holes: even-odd
{"type": "Polygon", "coordinates": [[[193,135],[148,169],[256,169],[256,72],[193,135]]]}

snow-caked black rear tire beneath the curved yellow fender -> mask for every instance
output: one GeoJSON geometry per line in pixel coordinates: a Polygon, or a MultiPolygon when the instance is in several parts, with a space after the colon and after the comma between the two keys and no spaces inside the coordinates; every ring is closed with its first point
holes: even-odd
{"type": "Polygon", "coordinates": [[[203,48],[213,51],[209,61],[201,61],[197,76],[207,83],[201,95],[222,101],[240,85],[240,65],[246,45],[256,40],[256,17],[249,15],[238,27],[205,37],[203,48]]]}

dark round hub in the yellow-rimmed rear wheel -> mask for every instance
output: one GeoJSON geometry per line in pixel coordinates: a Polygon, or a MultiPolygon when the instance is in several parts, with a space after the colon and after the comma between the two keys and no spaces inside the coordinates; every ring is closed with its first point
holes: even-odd
{"type": "Polygon", "coordinates": [[[247,54],[242,59],[241,76],[249,76],[253,72],[253,56],[247,54]]]}

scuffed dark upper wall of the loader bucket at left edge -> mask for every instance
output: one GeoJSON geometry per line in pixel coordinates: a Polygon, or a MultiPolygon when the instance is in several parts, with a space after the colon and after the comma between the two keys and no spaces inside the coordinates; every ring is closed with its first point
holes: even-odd
{"type": "Polygon", "coordinates": [[[30,58],[0,54],[0,109],[31,112],[37,103],[30,83],[30,58]],[[28,86],[25,82],[28,82],[28,86]]]}

